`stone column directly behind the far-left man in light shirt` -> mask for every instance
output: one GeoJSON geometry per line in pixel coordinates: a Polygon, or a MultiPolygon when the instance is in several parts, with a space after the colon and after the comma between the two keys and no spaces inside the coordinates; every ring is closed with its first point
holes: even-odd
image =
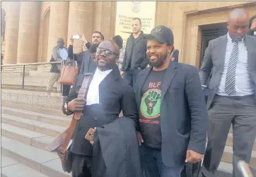
{"type": "Polygon", "coordinates": [[[64,45],[67,45],[68,23],[69,1],[51,1],[47,61],[51,59],[52,49],[57,45],[58,38],[64,39],[64,45]]]}

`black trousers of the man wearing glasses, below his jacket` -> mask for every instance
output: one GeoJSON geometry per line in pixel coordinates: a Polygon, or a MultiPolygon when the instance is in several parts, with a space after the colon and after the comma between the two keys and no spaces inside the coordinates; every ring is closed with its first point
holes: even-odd
{"type": "Polygon", "coordinates": [[[91,177],[93,157],[72,154],[72,177],[91,177]]]}

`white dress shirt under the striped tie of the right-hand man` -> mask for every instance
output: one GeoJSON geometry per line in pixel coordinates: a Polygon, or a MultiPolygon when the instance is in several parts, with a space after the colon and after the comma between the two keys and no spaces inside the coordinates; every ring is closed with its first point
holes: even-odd
{"type": "MultiPolygon", "coordinates": [[[[228,71],[228,62],[231,57],[231,52],[233,49],[233,42],[228,33],[228,42],[226,47],[225,63],[223,68],[223,73],[221,76],[221,82],[216,94],[221,96],[229,96],[225,92],[226,75],[228,71]]],[[[236,65],[235,71],[235,94],[231,96],[245,96],[255,93],[255,87],[253,87],[252,80],[250,78],[250,73],[248,71],[248,51],[245,47],[244,38],[238,43],[238,63],[236,65]]]]}

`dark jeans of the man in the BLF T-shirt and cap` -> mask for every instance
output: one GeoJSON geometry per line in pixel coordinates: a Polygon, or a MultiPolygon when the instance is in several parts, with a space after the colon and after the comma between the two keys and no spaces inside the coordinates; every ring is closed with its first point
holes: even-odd
{"type": "Polygon", "coordinates": [[[141,145],[139,147],[139,155],[144,177],[180,177],[180,173],[184,168],[184,166],[165,166],[162,161],[161,149],[153,149],[141,145]]]}

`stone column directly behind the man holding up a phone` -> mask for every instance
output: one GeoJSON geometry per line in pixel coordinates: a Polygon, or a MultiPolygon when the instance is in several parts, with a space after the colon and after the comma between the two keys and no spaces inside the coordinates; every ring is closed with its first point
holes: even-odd
{"type": "MultiPolygon", "coordinates": [[[[91,42],[93,32],[93,1],[70,1],[69,2],[69,30],[67,45],[71,35],[84,34],[88,42],[91,42]]],[[[74,40],[74,53],[81,51],[83,42],[74,40]]]]}

